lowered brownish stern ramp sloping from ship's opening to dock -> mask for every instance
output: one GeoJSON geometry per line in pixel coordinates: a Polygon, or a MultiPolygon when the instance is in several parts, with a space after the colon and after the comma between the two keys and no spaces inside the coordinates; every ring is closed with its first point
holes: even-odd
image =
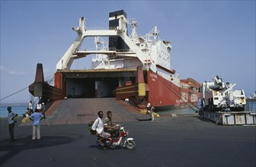
{"type": "MultiPolygon", "coordinates": [[[[107,117],[107,111],[112,112],[114,123],[138,121],[149,115],[133,111],[115,98],[79,98],[55,101],[46,111],[46,119],[41,124],[88,124],[98,118],[98,111],[107,117]]],[[[23,123],[30,125],[31,121],[23,123]]]]}

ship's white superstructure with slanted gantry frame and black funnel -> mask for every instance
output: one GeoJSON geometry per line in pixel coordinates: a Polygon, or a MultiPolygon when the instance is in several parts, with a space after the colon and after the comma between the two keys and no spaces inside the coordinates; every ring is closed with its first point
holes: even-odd
{"type": "Polygon", "coordinates": [[[135,20],[128,21],[124,11],[110,13],[108,30],[88,30],[85,17],[79,21],[75,42],[56,65],[56,71],[69,70],[72,61],[94,54],[91,69],[136,68],[142,66],[171,81],[178,87],[182,84],[178,74],[171,69],[171,42],[158,39],[159,31],[154,27],[145,36],[138,36],[135,20]],[[128,27],[132,27],[128,36],[128,27]],[[79,50],[86,37],[94,36],[95,50],[79,50]],[[109,37],[106,41],[105,37],[109,37]]]}

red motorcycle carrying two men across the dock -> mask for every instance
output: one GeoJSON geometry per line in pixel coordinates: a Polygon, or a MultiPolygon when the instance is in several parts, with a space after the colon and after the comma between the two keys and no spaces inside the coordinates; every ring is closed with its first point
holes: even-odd
{"type": "MultiPolygon", "coordinates": [[[[101,137],[98,137],[98,140],[102,139],[101,137]]],[[[126,147],[128,150],[134,150],[136,147],[136,143],[133,140],[133,138],[128,138],[128,131],[125,131],[123,126],[120,127],[119,135],[118,137],[111,136],[108,139],[104,140],[104,146],[101,145],[97,140],[97,144],[100,147],[110,147],[110,148],[116,148],[116,147],[126,147]]]]}

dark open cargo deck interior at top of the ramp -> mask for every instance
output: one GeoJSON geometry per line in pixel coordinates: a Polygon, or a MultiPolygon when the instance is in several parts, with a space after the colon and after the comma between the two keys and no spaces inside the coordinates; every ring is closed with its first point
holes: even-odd
{"type": "Polygon", "coordinates": [[[59,71],[68,98],[114,97],[115,89],[136,82],[136,69],[59,71]]]}

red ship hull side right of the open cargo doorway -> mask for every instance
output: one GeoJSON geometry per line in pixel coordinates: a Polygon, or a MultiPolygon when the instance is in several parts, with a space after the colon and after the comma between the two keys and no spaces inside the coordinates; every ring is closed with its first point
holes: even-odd
{"type": "Polygon", "coordinates": [[[117,88],[117,99],[129,98],[138,108],[144,108],[146,103],[150,102],[158,111],[184,108],[190,104],[197,105],[200,98],[198,92],[200,83],[197,81],[187,78],[181,80],[181,83],[184,83],[186,87],[178,87],[153,71],[146,71],[145,76],[139,71],[142,69],[138,68],[137,83],[117,88]],[[144,90],[145,93],[143,93],[144,90]]]}

